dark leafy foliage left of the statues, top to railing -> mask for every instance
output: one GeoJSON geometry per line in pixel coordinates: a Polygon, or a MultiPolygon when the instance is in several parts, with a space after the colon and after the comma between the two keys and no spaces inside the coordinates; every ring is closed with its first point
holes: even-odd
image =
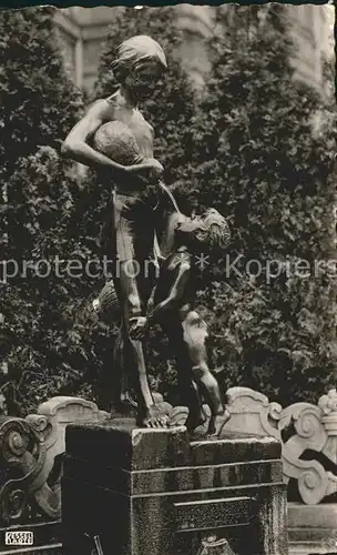
{"type": "Polygon", "coordinates": [[[11,414],[76,393],[93,356],[88,321],[79,321],[92,284],[69,275],[65,263],[55,270],[57,258],[85,262],[90,253],[75,224],[79,183],[60,158],[82,104],[63,69],[53,14],[50,8],[0,12],[1,259],[17,270],[1,276],[8,337],[1,383],[11,414]]]}

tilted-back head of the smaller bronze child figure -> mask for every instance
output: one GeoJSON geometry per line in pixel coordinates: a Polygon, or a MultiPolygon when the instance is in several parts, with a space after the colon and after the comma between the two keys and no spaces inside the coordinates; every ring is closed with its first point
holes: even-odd
{"type": "Polygon", "coordinates": [[[228,223],[215,209],[186,219],[178,224],[177,232],[183,242],[207,252],[224,250],[231,241],[228,223]]]}

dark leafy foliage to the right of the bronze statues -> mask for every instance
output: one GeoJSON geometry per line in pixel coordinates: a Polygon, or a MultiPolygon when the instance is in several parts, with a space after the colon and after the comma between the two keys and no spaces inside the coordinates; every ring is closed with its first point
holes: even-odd
{"type": "Polygon", "coordinates": [[[217,208],[233,231],[227,261],[204,272],[213,362],[226,386],[310,401],[336,370],[335,101],[293,79],[283,7],[228,8],[235,37],[218,9],[213,73],[193,129],[193,200],[217,208]],[[226,276],[237,255],[242,274],[226,276]],[[274,260],[284,270],[268,280],[274,260]]]}

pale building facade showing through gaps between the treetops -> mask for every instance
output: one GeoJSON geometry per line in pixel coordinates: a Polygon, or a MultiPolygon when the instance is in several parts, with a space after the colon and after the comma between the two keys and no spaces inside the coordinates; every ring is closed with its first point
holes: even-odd
{"type": "MultiPolygon", "coordinates": [[[[118,10],[123,7],[68,8],[58,10],[57,29],[69,73],[74,82],[91,92],[98,74],[100,56],[118,10]]],[[[135,9],[141,9],[136,7],[135,9]]],[[[160,8],[159,8],[160,9],[160,8]]],[[[231,9],[231,6],[224,6],[231,9]]],[[[323,89],[324,60],[334,56],[333,6],[286,6],[289,33],[296,51],[292,60],[296,77],[323,89]]],[[[214,29],[214,8],[207,6],[177,4],[172,17],[183,30],[182,63],[196,88],[202,88],[210,70],[205,40],[214,29]]]]}

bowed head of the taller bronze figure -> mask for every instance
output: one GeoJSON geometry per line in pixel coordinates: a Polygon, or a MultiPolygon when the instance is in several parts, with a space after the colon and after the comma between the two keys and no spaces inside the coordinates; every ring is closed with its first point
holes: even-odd
{"type": "Polygon", "coordinates": [[[139,34],[120,44],[112,69],[121,84],[136,97],[144,98],[166,71],[167,62],[155,40],[139,34]]]}

